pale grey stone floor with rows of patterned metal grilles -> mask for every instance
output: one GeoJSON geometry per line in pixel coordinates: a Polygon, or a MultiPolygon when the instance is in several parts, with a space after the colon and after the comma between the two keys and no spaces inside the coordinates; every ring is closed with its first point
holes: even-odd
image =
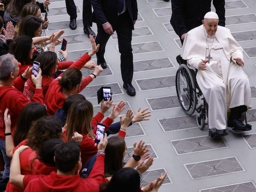
{"type": "MultiPolygon", "coordinates": [[[[256,192],[256,175],[251,171],[255,170],[255,164],[252,163],[254,160],[248,160],[256,158],[256,100],[252,99],[253,109],[247,112],[247,120],[253,125],[252,131],[237,134],[229,130],[228,136],[211,139],[207,136],[207,127],[199,130],[196,115],[185,115],[175,92],[178,66],[175,58],[180,54],[181,42],[169,23],[171,2],[137,1],[139,13],[132,40],[133,85],[137,95],[129,97],[122,88],[115,33],[106,47],[107,69],[82,91],[92,102],[94,114],[100,110],[96,92],[103,85],[112,88],[115,103],[126,100],[121,116],[127,109],[134,112],[138,107],[151,110],[150,121],[129,126],[126,134],[126,161],[132,155],[131,146],[139,140],[146,142],[154,158],[153,166],[141,175],[141,186],[146,186],[167,171],[160,192],[256,192]]],[[[76,30],[69,29],[65,1],[51,0],[50,23],[46,31],[50,34],[59,29],[65,30],[63,37],[68,40],[69,60],[77,60],[90,50],[89,39],[82,31],[82,0],[75,0],[75,3],[78,14],[76,30]]],[[[244,69],[249,74],[252,98],[256,98],[255,0],[226,0],[225,8],[226,26],[247,55],[244,69]]],[[[212,7],[212,10],[215,9],[212,7]]],[[[96,32],[95,24],[93,30],[96,32]]],[[[96,62],[95,56],[92,59],[96,62]]],[[[86,68],[81,71],[83,76],[92,72],[86,68]]],[[[105,114],[108,115],[110,110],[105,114]]]]}

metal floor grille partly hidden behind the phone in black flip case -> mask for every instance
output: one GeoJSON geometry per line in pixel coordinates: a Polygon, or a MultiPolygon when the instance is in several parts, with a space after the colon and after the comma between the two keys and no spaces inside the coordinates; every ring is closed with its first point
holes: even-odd
{"type": "Polygon", "coordinates": [[[97,91],[103,86],[111,87],[112,95],[124,94],[124,92],[121,89],[121,86],[118,82],[86,86],[85,89],[83,89],[83,91],[81,93],[85,96],[85,98],[96,98],[97,91]]]}

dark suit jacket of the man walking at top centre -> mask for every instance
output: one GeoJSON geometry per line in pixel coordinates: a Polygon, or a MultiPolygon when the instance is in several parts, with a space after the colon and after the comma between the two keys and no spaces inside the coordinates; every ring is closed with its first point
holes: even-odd
{"type": "MultiPolygon", "coordinates": [[[[115,28],[118,18],[118,0],[91,0],[93,13],[92,21],[99,25],[109,22],[115,28]]],[[[133,21],[137,20],[137,0],[126,0],[129,13],[129,23],[133,28],[133,21]]]]}

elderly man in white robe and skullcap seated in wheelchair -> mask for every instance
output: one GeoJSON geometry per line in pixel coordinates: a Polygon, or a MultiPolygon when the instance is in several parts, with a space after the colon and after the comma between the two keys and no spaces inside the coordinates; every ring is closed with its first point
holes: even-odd
{"type": "MultiPolygon", "coordinates": [[[[241,119],[241,114],[252,107],[249,80],[242,69],[244,67],[243,50],[229,29],[218,26],[218,22],[218,15],[208,12],[204,16],[202,25],[186,34],[182,49],[182,58],[187,61],[187,66],[190,68],[186,69],[187,75],[185,76],[191,78],[187,80],[191,91],[189,94],[187,93],[186,97],[189,97],[189,100],[195,100],[200,95],[193,92],[196,88],[201,90],[206,100],[203,106],[207,105],[211,137],[227,135],[227,126],[232,127],[234,131],[251,130],[251,125],[247,122],[244,124],[241,119]],[[197,71],[196,81],[193,80],[193,75],[189,74],[188,70],[191,69],[197,71]],[[196,85],[192,85],[192,83],[196,85]],[[230,111],[229,119],[227,111],[230,111]]],[[[184,69],[187,66],[180,66],[183,68],[180,75],[184,75],[184,69]]],[[[182,82],[179,83],[182,86],[182,82]]],[[[182,91],[186,90],[183,88],[182,91]]],[[[181,92],[181,89],[179,91],[181,92]]],[[[180,93],[180,95],[182,94],[180,93]]],[[[179,99],[183,100],[182,97],[179,99]]],[[[194,103],[194,105],[196,104],[194,103]]],[[[199,112],[201,109],[197,111],[199,112]]]]}

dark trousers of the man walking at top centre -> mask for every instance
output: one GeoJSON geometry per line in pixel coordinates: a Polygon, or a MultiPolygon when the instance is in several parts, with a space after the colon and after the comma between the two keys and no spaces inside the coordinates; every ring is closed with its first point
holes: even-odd
{"type": "MultiPolygon", "coordinates": [[[[131,48],[132,26],[129,22],[128,11],[118,17],[117,25],[113,30],[118,36],[119,53],[121,54],[121,75],[124,83],[131,83],[133,77],[133,55],[131,48]]],[[[105,33],[103,27],[98,25],[98,34],[95,42],[100,44],[99,51],[96,53],[99,62],[105,61],[104,53],[110,34],[105,33]]],[[[113,27],[113,26],[112,26],[113,27]]]]}

